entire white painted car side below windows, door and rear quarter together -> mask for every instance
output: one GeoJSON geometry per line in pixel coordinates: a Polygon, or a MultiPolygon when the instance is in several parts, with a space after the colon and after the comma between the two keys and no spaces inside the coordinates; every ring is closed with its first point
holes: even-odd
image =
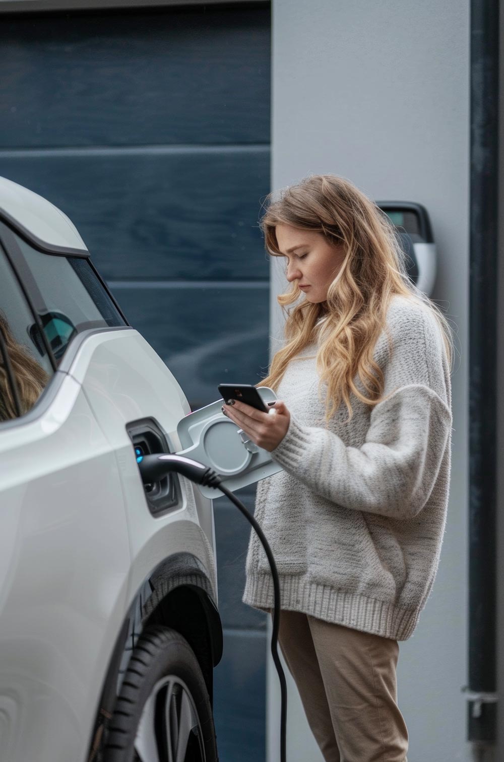
{"type": "Polygon", "coordinates": [[[136,331],[90,334],[47,410],[0,436],[2,762],[84,762],[125,613],[163,559],[197,556],[217,603],[212,501],[180,477],[181,505],[152,517],[125,427],[154,417],[179,447],[187,399],[136,331]]]}

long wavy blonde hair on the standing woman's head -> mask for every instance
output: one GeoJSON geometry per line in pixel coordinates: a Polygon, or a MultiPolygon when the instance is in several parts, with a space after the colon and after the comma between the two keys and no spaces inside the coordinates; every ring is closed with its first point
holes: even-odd
{"type": "Polygon", "coordinates": [[[345,259],[329,286],[326,302],[303,299],[291,309],[303,293],[294,280],[291,290],[280,294],[286,322],[287,343],[274,354],[268,376],[255,386],[276,389],[288,363],[313,341],[319,339],[316,369],[319,373],[319,399],[327,384],[326,425],[344,399],[348,419],[352,420],[349,392],[373,407],[382,402],[384,374],[373,360],[374,346],[386,331],[386,316],[393,295],[400,294],[422,304],[432,312],[445,344],[451,366],[453,344],[451,327],[441,310],[416,288],[406,271],[406,255],[390,218],[346,178],[334,174],[313,174],[281,191],[275,200],[269,194],[259,226],[265,248],[272,256],[284,256],[278,248],[275,226],[319,232],[333,244],[344,246],[345,259]],[[316,325],[325,317],[323,328],[316,325]],[[368,397],[355,386],[358,374],[368,397]],[[329,407],[329,402],[331,403],[329,407]]]}

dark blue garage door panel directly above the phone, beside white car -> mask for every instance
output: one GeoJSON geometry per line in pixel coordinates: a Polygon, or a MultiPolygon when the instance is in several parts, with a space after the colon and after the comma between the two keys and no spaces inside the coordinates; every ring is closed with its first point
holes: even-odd
{"type": "Polygon", "coordinates": [[[268,283],[112,291],[130,324],[178,379],[193,410],[219,399],[219,383],[258,383],[266,376],[268,283]]]}

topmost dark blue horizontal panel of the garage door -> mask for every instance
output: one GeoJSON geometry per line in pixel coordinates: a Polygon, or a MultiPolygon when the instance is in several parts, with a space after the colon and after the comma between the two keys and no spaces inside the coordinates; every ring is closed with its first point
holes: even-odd
{"type": "Polygon", "coordinates": [[[269,8],[2,18],[0,146],[269,141],[269,8]]]}

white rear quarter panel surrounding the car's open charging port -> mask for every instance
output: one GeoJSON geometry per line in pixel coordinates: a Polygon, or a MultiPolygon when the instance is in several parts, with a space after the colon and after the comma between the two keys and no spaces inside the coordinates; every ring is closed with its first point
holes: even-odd
{"type": "Polygon", "coordinates": [[[82,383],[96,420],[117,456],[131,543],[128,600],[156,565],[153,563],[156,559],[186,550],[204,563],[217,604],[212,501],[204,498],[184,476],[178,476],[181,506],[153,519],[126,430],[126,424],[138,418],[155,418],[174,451],[182,449],[177,424],[191,408],[175,376],[143,336],[131,329],[88,338],[69,373],[82,383]],[[177,536],[170,532],[169,524],[174,520],[187,522],[183,535],[179,523],[177,536]],[[165,531],[161,531],[162,527],[165,531]]]}

